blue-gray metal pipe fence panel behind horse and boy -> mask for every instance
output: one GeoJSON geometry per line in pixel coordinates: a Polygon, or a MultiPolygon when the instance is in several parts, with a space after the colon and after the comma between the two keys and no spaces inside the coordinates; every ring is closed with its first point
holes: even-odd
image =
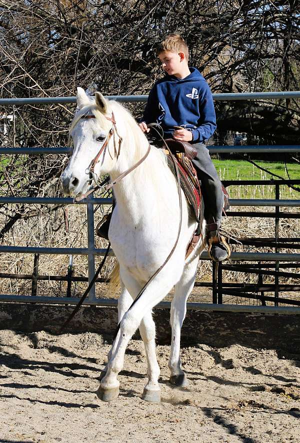
{"type": "MultiPolygon", "coordinates": [[[[147,95],[108,95],[108,99],[114,99],[117,101],[127,101],[127,102],[140,102],[146,101],[147,95]]],[[[214,100],[251,100],[251,99],[278,99],[278,98],[300,98],[300,91],[290,91],[290,92],[254,92],[254,93],[220,93],[213,94],[214,100]]],[[[39,97],[39,98],[0,98],[0,105],[25,105],[25,104],[45,104],[45,103],[75,103],[76,97],[39,97]]],[[[224,153],[224,152],[300,152],[300,145],[281,145],[281,146],[207,146],[210,153],[224,153]]],[[[0,148],[0,154],[48,154],[48,153],[58,153],[58,154],[70,154],[71,148],[69,147],[23,147],[23,148],[12,148],[12,147],[2,147],[0,148]]],[[[234,181],[234,180],[233,180],[234,181]]],[[[242,180],[245,181],[245,180],[242,180]]],[[[263,182],[262,180],[251,180],[254,182],[263,182]]],[[[299,182],[300,180],[283,180],[284,182],[299,182]]],[[[283,181],[280,183],[283,184],[283,181]]],[[[274,180],[270,180],[270,184],[275,184],[274,180]]],[[[278,183],[276,183],[278,184],[278,183]]],[[[262,200],[262,199],[230,199],[231,205],[234,206],[269,206],[275,207],[276,219],[279,219],[280,213],[278,209],[282,207],[300,207],[300,200],[279,200],[278,198],[274,200],[262,200]]],[[[0,203],[27,203],[27,204],[74,204],[74,200],[69,197],[0,197],[0,203]]],[[[93,221],[93,205],[94,204],[111,204],[111,198],[87,198],[83,199],[75,204],[85,204],[87,210],[87,224],[88,224],[88,245],[87,248],[43,248],[43,247],[22,247],[22,246],[0,246],[0,252],[15,252],[15,253],[34,253],[34,254],[86,254],[88,256],[88,281],[90,281],[94,275],[94,256],[103,255],[105,249],[95,248],[94,246],[94,221],[93,221]]],[[[235,214],[232,212],[232,214],[235,214]]],[[[243,213],[241,213],[243,214],[243,213]]],[[[257,213],[260,214],[260,213],[257,213]]],[[[270,213],[271,216],[273,212],[270,213]]],[[[285,215],[288,215],[284,213],[285,215]]],[[[266,214],[267,216],[267,214],[266,214]]],[[[110,255],[113,252],[110,251],[110,255]]],[[[208,259],[206,252],[201,254],[201,259],[208,259]]],[[[235,260],[247,260],[247,261],[257,261],[257,260],[267,260],[275,261],[276,268],[278,270],[279,260],[284,261],[300,261],[300,254],[298,253],[265,253],[265,252],[233,252],[231,259],[235,260]]],[[[214,288],[214,290],[216,290],[214,288]]],[[[77,301],[74,297],[34,297],[34,296],[20,296],[20,295],[0,295],[0,301],[30,301],[30,302],[47,302],[47,303],[74,303],[77,301]]],[[[214,300],[215,301],[215,300],[214,300]]],[[[95,297],[95,289],[91,290],[88,300],[85,304],[98,304],[98,305],[115,305],[116,300],[107,299],[97,299],[95,297]]],[[[167,302],[161,302],[159,307],[169,307],[167,302]]],[[[220,309],[229,311],[246,311],[246,312],[272,312],[277,313],[295,313],[298,312],[297,307],[264,307],[264,306],[216,306],[214,304],[203,303],[188,303],[188,308],[190,309],[220,309]],[[212,307],[213,306],[213,307],[212,307]]]]}

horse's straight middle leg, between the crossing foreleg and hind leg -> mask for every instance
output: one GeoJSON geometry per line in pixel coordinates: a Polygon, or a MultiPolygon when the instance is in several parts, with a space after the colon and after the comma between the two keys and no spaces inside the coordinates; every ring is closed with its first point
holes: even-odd
{"type": "Polygon", "coordinates": [[[145,314],[139,325],[139,332],[144,343],[147,358],[148,382],[144,387],[142,398],[146,401],[160,401],[160,387],[158,377],[160,369],[155,351],[155,323],[152,312],[145,314]]]}

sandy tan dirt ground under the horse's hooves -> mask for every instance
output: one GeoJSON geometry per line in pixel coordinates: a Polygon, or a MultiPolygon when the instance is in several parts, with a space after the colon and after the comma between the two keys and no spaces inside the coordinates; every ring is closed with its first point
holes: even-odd
{"type": "Polygon", "coordinates": [[[184,347],[189,387],[180,390],[168,383],[169,346],[159,345],[162,401],[149,403],[143,345],[131,340],[120,395],[104,403],[95,390],[106,340],[0,330],[0,441],[300,442],[300,355],[184,347]]]}

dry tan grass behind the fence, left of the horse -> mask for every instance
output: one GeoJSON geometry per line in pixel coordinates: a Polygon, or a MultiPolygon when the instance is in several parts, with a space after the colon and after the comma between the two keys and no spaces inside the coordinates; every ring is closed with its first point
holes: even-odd
{"type": "MultiPolygon", "coordinates": [[[[103,210],[109,206],[99,208],[95,212],[95,226],[102,218],[103,210]]],[[[44,214],[41,207],[38,217],[27,221],[18,220],[9,234],[5,235],[3,244],[15,246],[37,247],[87,247],[87,223],[85,205],[68,206],[69,231],[64,228],[63,208],[58,208],[55,213],[44,214]]],[[[95,246],[107,247],[108,242],[98,237],[95,246]]],[[[96,266],[102,257],[95,258],[96,266]]],[[[106,277],[111,268],[113,258],[108,258],[103,268],[102,276],[106,277]]],[[[40,255],[38,264],[39,275],[66,275],[69,264],[68,255],[40,255]]],[[[87,276],[87,256],[75,255],[73,257],[74,275],[87,276]]],[[[0,259],[0,272],[17,274],[31,274],[33,269],[33,254],[2,253],[0,259]]],[[[38,281],[37,295],[64,296],[66,282],[51,280],[38,281]]],[[[87,287],[85,282],[76,282],[72,285],[74,296],[78,296],[87,287]]],[[[0,279],[1,293],[30,294],[31,280],[0,279]]]]}

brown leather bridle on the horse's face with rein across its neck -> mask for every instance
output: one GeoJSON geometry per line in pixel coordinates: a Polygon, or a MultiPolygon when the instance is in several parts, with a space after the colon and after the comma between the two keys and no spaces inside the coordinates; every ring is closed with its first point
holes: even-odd
{"type": "MultiPolygon", "coordinates": [[[[80,118],[86,119],[86,118],[96,118],[95,115],[82,115],[80,118]]],[[[119,135],[117,128],[116,128],[116,121],[114,118],[114,113],[113,111],[111,112],[111,117],[107,117],[105,115],[105,118],[109,121],[112,122],[112,127],[109,129],[108,135],[104,141],[104,143],[102,144],[102,146],[100,147],[98,153],[96,154],[96,156],[92,159],[92,161],[90,162],[90,165],[86,168],[85,173],[89,175],[88,181],[93,180],[95,183],[95,186],[93,188],[91,188],[90,190],[88,190],[87,192],[85,192],[85,194],[79,195],[78,197],[75,197],[75,201],[80,201],[83,198],[87,197],[87,195],[91,194],[92,192],[98,190],[98,189],[103,189],[103,190],[108,190],[111,189],[116,183],[118,183],[122,178],[124,178],[129,172],[131,172],[133,169],[135,169],[137,166],[140,165],[140,163],[142,163],[145,158],[147,157],[148,153],[150,152],[150,144],[148,144],[148,148],[146,153],[135,163],[133,164],[133,166],[129,167],[129,169],[125,170],[123,173],[121,173],[117,178],[115,178],[115,180],[110,181],[109,183],[105,184],[105,185],[101,185],[101,184],[97,184],[98,182],[98,178],[94,172],[94,167],[95,165],[100,161],[100,155],[103,153],[103,158],[102,158],[102,162],[104,160],[104,156],[106,153],[106,148],[108,149],[108,153],[110,155],[109,152],[109,140],[113,135],[113,149],[114,149],[114,156],[116,157],[116,159],[118,159],[119,154],[120,154],[120,150],[121,150],[121,144],[122,144],[122,137],[119,135]],[[118,137],[118,148],[116,148],[116,141],[115,141],[115,134],[118,137]]],[[[110,155],[110,158],[112,158],[112,156],[110,155]]]]}

